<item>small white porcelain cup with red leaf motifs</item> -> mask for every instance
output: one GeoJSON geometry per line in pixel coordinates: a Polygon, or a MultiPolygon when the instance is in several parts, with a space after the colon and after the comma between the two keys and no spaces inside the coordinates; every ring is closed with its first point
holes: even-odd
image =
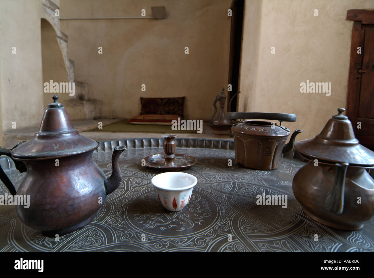
{"type": "Polygon", "coordinates": [[[190,201],[197,179],[183,172],[166,172],[152,178],[160,202],[168,211],[180,211],[190,201]]]}

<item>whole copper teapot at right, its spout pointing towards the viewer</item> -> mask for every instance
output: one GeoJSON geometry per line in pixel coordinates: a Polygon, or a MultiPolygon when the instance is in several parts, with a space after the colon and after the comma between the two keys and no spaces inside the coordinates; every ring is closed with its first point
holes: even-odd
{"type": "Polygon", "coordinates": [[[374,216],[374,152],[360,145],[352,123],[332,116],[315,138],[302,140],[295,149],[309,160],[292,181],[292,190],[303,211],[330,227],[358,230],[374,216]]]}

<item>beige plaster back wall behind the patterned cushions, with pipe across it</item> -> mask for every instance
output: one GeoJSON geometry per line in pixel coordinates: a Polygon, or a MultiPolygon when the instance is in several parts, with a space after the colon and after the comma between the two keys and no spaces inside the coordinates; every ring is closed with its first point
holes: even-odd
{"type": "Polygon", "coordinates": [[[210,118],[215,96],[227,88],[231,1],[61,0],[62,18],[140,16],[141,9],[151,16],[151,6],[166,7],[160,20],[60,21],[75,80],[101,101],[101,117],[140,114],[140,97],[186,96],[186,118],[210,118]]]}

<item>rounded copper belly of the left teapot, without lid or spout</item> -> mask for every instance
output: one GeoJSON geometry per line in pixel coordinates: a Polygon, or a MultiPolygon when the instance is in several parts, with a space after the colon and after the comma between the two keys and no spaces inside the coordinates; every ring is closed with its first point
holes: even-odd
{"type": "Polygon", "coordinates": [[[51,234],[74,226],[101,208],[106,199],[104,179],[92,152],[62,157],[59,166],[54,159],[27,161],[17,194],[30,195],[30,208],[17,206],[18,215],[26,225],[51,234]]]}

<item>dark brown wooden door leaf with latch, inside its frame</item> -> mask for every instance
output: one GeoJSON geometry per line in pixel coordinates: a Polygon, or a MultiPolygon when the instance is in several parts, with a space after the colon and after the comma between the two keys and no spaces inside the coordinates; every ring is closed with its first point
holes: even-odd
{"type": "Polygon", "coordinates": [[[374,119],[374,27],[365,27],[358,118],[374,119]]]}

